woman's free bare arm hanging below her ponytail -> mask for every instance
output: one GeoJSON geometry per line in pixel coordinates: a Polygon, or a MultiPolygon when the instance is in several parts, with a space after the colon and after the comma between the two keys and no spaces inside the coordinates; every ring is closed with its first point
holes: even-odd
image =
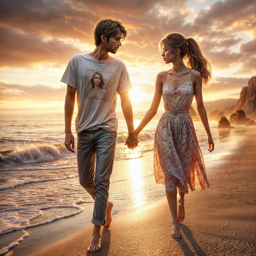
{"type": "Polygon", "coordinates": [[[198,115],[200,116],[200,119],[202,121],[202,124],[204,126],[204,129],[207,133],[208,136],[208,144],[209,148],[208,151],[211,152],[214,149],[214,143],[213,139],[211,137],[211,131],[207,119],[207,114],[206,110],[204,108],[204,103],[203,103],[203,97],[202,97],[202,76],[200,72],[194,71],[193,74],[193,84],[194,84],[194,91],[195,91],[195,102],[196,102],[196,107],[198,110],[198,115]]]}

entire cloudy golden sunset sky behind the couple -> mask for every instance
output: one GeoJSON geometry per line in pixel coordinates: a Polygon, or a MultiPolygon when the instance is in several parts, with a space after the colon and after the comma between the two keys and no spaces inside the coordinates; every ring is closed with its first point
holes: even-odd
{"type": "Polygon", "coordinates": [[[256,75],[256,0],[0,0],[0,111],[63,111],[70,58],[94,49],[92,29],[111,16],[128,31],[115,54],[126,63],[134,111],[150,106],[159,40],[192,36],[213,65],[204,101],[238,99],[256,75]]]}

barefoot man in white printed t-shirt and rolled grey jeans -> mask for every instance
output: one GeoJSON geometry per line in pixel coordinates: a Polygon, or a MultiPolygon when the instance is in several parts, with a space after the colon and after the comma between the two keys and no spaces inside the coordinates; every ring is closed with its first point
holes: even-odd
{"type": "Polygon", "coordinates": [[[67,84],[65,98],[65,146],[74,153],[74,136],[71,121],[77,94],[76,116],[77,164],[79,182],[94,198],[92,242],[87,252],[98,252],[101,248],[101,226],[109,228],[112,202],[108,201],[110,174],[117,141],[117,118],[115,106],[117,94],[128,127],[128,148],[138,146],[133,127],[132,106],[129,90],[132,88],[124,63],[108,53],[115,54],[125,39],[127,31],[118,20],[103,18],[94,27],[95,49],[86,54],[74,55],[61,81],[67,84]],[[104,97],[89,97],[91,79],[95,72],[101,74],[104,97]]]}

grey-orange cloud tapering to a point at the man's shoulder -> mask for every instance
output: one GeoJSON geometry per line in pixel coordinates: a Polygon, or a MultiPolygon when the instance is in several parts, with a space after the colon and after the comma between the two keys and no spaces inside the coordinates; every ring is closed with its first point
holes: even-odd
{"type": "Polygon", "coordinates": [[[36,64],[62,65],[81,50],[55,38],[2,28],[0,62],[2,67],[31,67],[36,64]]]}

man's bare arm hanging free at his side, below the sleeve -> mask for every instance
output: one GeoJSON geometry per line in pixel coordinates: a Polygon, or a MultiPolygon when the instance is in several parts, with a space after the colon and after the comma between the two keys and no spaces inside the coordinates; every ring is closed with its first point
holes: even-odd
{"type": "Polygon", "coordinates": [[[67,85],[67,93],[65,98],[65,146],[66,148],[75,153],[75,140],[71,131],[71,123],[74,112],[76,100],[76,88],[67,85]]]}

